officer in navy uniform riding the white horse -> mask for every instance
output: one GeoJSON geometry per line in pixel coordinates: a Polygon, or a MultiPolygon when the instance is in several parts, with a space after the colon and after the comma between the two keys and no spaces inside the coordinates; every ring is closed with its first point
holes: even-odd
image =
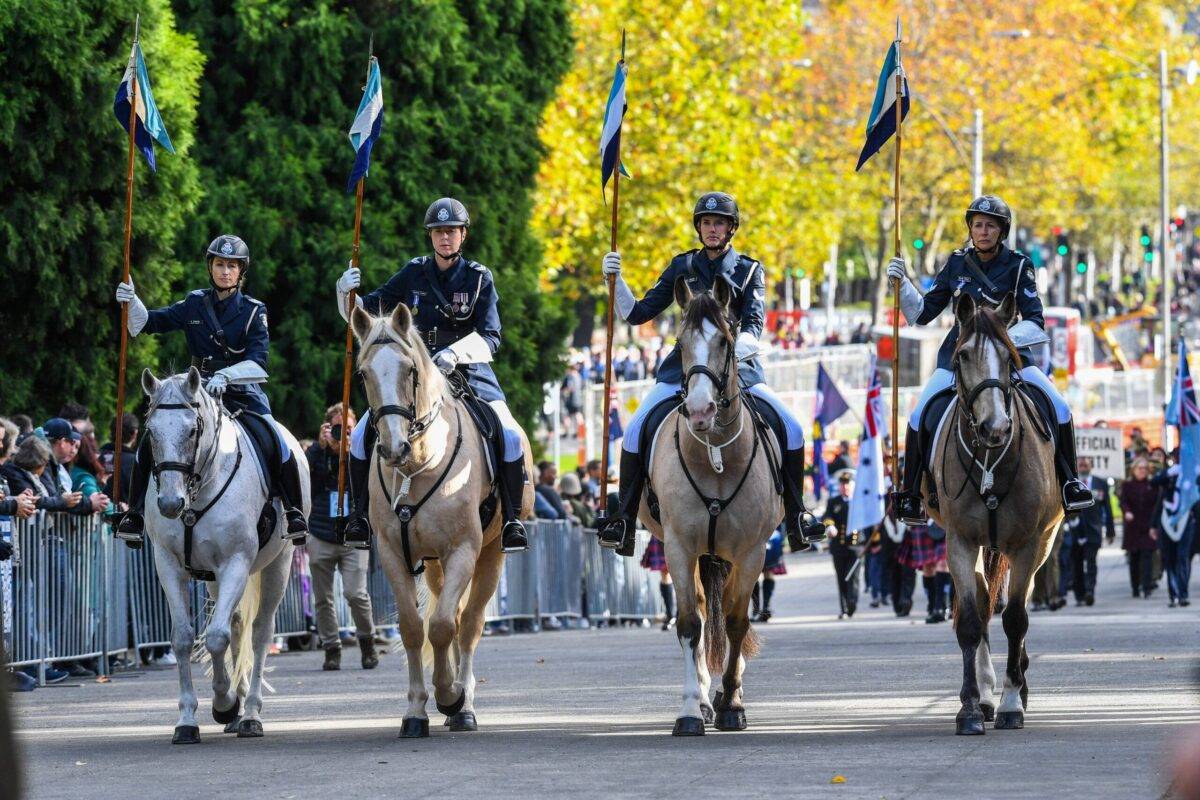
{"type": "MultiPolygon", "coordinates": [[[[260,415],[277,440],[278,457],[271,465],[274,483],[283,495],[287,531],[284,539],[302,543],[308,533],[305,521],[300,468],[271,417],[271,405],[259,384],[266,381],[266,306],[241,291],[250,270],[250,248],[238,236],[217,236],[205,253],[209,288],[196,289],[179,302],[149,311],[130,283],[116,285],[116,301],[128,303],[130,336],[184,331],[192,366],[200,371],[205,389],[230,411],[260,415]]],[[[245,417],[244,417],[245,419],[245,417]]],[[[116,524],[114,535],[132,548],[142,547],[145,521],[143,509],[154,467],[150,437],[142,437],[133,470],[130,510],[116,524]]]]}

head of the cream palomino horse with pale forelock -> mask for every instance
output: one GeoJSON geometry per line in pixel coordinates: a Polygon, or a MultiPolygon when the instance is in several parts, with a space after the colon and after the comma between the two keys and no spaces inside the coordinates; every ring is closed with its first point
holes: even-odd
{"type": "Polygon", "coordinates": [[[398,303],[389,317],[350,314],[359,341],[359,375],[371,403],[379,457],[388,467],[425,461],[422,434],[442,410],[445,378],[430,357],[413,314],[398,303]]]}

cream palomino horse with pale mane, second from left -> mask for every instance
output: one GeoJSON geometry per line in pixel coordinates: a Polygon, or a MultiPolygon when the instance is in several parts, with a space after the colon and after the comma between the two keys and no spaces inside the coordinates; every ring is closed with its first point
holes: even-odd
{"type": "MultiPolygon", "coordinates": [[[[371,527],[396,595],[408,656],[408,709],[401,736],[430,735],[425,711],[425,620],[415,576],[424,559],[433,600],[426,608],[433,650],[433,699],[451,730],[475,730],[475,648],[484,610],[504,567],[500,515],[487,530],[479,507],[492,493],[482,437],[421,342],[403,303],[390,317],[350,314],[359,341],[359,374],[378,441],[371,457],[371,527]]],[[[529,443],[526,474],[533,473],[529,443]]],[[[527,483],[521,516],[533,512],[527,483]]]]}

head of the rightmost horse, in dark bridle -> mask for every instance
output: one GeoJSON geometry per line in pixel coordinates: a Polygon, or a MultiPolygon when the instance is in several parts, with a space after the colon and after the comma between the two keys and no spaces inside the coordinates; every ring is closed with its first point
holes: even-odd
{"type": "Polygon", "coordinates": [[[952,366],[959,402],[976,438],[985,447],[1001,447],[1013,432],[1012,375],[1021,367],[1021,357],[1008,338],[1008,326],[1016,317],[1016,296],[1009,293],[992,311],[965,294],[954,315],[959,343],[952,366]]]}

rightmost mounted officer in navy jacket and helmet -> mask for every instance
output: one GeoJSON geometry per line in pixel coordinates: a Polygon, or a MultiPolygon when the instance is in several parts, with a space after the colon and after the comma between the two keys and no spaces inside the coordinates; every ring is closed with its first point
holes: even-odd
{"type": "MultiPolygon", "coordinates": [[[[964,294],[977,303],[990,308],[1000,305],[1004,295],[1014,293],[1021,321],[1009,329],[1008,335],[1021,356],[1018,372],[1021,380],[1040,389],[1054,404],[1058,423],[1058,452],[1056,456],[1058,479],[1062,483],[1062,503],[1067,511],[1081,511],[1094,503],[1091,489],[1079,480],[1075,463],[1075,433],[1070,408],[1054,383],[1033,363],[1032,347],[1046,341],[1045,320],[1042,318],[1042,299],[1034,282],[1033,265],[1016,251],[1008,249],[1003,240],[1008,236],[1012,212],[1008,204],[994,194],[976,198],[966,211],[970,243],[956,249],[947,259],[934,285],[923,296],[908,279],[902,258],[893,258],[888,264],[888,277],[900,282],[900,308],[910,325],[928,325],[950,303],[956,303],[964,294]]],[[[937,351],[937,369],[925,384],[917,408],[908,417],[905,439],[904,487],[893,495],[898,516],[908,524],[925,524],[926,515],[920,499],[920,476],[926,469],[925,437],[922,434],[922,414],[929,402],[954,385],[952,359],[959,338],[958,324],[950,329],[937,351]]]]}

